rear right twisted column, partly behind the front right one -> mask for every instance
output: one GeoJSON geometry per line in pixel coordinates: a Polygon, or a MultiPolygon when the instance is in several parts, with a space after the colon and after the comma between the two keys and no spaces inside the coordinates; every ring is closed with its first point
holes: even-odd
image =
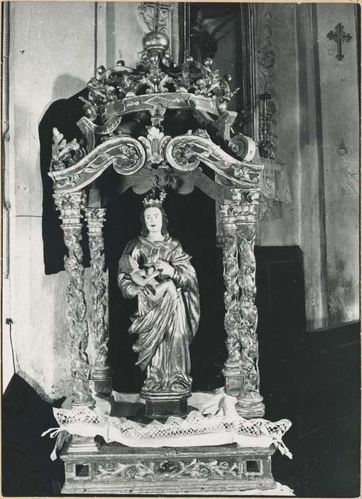
{"type": "Polygon", "coordinates": [[[227,333],[227,360],[222,374],[225,378],[225,391],[229,395],[237,396],[242,376],[240,374],[240,346],[239,346],[239,286],[237,276],[239,272],[237,261],[237,226],[234,220],[234,206],[221,205],[220,218],[222,220],[222,263],[224,265],[224,327],[227,333]]]}

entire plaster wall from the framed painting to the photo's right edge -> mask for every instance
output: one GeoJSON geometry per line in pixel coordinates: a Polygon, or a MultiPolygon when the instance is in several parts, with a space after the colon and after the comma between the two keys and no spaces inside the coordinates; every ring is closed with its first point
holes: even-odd
{"type": "Polygon", "coordinates": [[[308,329],[359,318],[356,8],[255,6],[257,93],[267,82],[274,161],[291,190],[291,204],[274,203],[259,222],[258,244],[301,247],[308,329]],[[326,36],[339,22],[352,36],[342,61],[326,36]]]}

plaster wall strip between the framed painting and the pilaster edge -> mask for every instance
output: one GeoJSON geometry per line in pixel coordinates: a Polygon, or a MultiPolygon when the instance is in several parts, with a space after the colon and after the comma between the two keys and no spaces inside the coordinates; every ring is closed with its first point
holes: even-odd
{"type": "MultiPolygon", "coordinates": [[[[300,168],[298,68],[295,4],[256,4],[257,96],[264,84],[272,99],[274,163],[282,165],[289,182],[291,203],[274,202],[259,222],[261,246],[299,245],[300,168]]],[[[259,139],[259,138],[258,138],[259,139]]],[[[264,200],[262,199],[262,203],[264,200]]],[[[263,207],[261,208],[263,209],[263,207]]]]}

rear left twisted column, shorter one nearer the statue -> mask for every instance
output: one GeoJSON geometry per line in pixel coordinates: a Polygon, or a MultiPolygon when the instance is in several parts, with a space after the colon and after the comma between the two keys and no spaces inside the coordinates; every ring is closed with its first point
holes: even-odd
{"type": "Polygon", "coordinates": [[[103,223],[105,208],[86,208],[90,252],[90,282],[92,308],[90,311],[90,334],[95,346],[95,359],[91,368],[91,379],[96,393],[110,395],[112,384],[108,366],[108,286],[105,280],[105,257],[103,223]]]}

